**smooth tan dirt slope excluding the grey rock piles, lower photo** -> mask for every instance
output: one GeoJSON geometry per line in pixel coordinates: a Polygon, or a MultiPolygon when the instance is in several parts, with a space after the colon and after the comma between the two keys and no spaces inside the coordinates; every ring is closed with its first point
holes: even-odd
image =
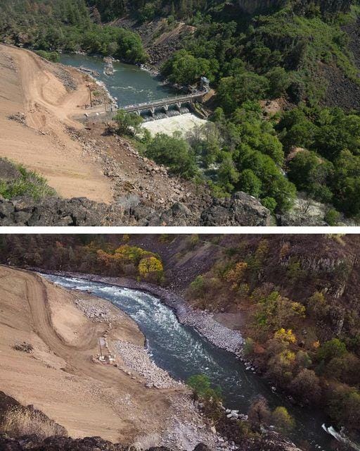
{"type": "MultiPolygon", "coordinates": [[[[72,437],[100,435],[132,443],[137,435],[161,433],[182,388],[146,388],[115,366],[94,362],[107,323],[93,322],[75,300],[104,302],[70,292],[27,271],[0,266],[0,387],[22,404],[34,404],[65,426],[72,437]],[[13,349],[32,344],[31,354],[13,349]]],[[[143,344],[136,324],[106,302],[117,318],[108,342],[143,344]]],[[[119,362],[120,367],[122,363],[119,362]]]]}

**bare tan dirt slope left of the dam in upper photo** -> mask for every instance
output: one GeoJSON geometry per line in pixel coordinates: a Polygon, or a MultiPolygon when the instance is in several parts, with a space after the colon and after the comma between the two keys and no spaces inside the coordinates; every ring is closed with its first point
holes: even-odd
{"type": "Polygon", "coordinates": [[[38,171],[63,197],[110,202],[110,180],[66,132],[82,127],[71,117],[86,103],[86,80],[77,70],[0,44],[0,155],[38,171]],[[8,119],[17,113],[24,123],[8,119]]]}

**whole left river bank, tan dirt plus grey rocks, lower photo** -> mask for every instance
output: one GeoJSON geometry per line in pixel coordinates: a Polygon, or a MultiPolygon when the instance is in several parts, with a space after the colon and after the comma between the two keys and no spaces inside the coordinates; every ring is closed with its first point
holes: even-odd
{"type": "Polygon", "coordinates": [[[211,430],[191,390],[151,362],[143,333],[126,312],[34,272],[1,266],[0,275],[5,393],[34,404],[73,438],[96,435],[139,449],[192,451],[198,443],[232,449],[211,430]],[[113,364],[98,361],[99,338],[104,353],[116,353],[113,364]],[[23,342],[30,352],[14,348],[23,342]]]}

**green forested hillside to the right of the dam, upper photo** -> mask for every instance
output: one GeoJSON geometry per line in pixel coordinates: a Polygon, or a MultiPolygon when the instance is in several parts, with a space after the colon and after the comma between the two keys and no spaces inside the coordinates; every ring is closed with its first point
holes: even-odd
{"type": "MultiPolygon", "coordinates": [[[[338,221],[337,210],[358,217],[356,1],[89,4],[105,21],[127,15],[138,23],[164,18],[164,32],[176,20],[195,27],[160,70],[179,85],[206,75],[217,91],[212,125],[205,137],[190,137],[185,152],[193,167],[203,169],[215,195],[242,190],[282,213],[299,191],[333,204],[325,218],[330,224],[338,221]],[[269,104],[267,116],[259,101],[269,104]]],[[[157,152],[155,159],[168,164],[171,156],[157,152]]]]}

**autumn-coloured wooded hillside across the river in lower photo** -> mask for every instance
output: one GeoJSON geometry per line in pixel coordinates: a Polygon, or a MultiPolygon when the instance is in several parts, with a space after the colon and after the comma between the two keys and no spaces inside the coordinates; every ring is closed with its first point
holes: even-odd
{"type": "MultiPolygon", "coordinates": [[[[246,359],[293,402],[321,407],[334,425],[356,437],[359,246],[356,235],[12,235],[1,241],[1,261],[160,282],[195,308],[236,314],[246,359]],[[150,258],[157,260],[152,269],[140,265],[150,258]]],[[[216,401],[219,392],[209,384],[193,381],[203,397],[216,401]]],[[[216,407],[212,401],[210,406],[216,407]]],[[[285,411],[271,414],[264,400],[255,400],[252,409],[262,412],[258,424],[253,421],[255,431],[271,424],[274,415],[284,431],[292,425],[285,411]]]]}

